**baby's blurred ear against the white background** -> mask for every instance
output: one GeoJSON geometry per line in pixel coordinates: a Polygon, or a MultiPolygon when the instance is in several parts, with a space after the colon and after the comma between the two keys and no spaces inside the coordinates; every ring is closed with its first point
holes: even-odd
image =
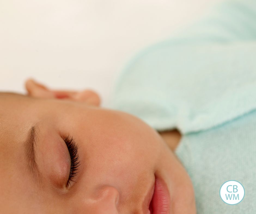
{"type": "Polygon", "coordinates": [[[40,98],[57,98],[68,99],[79,102],[86,102],[90,105],[100,106],[100,97],[93,90],[65,91],[65,90],[51,90],[42,84],[37,83],[33,79],[28,79],[25,82],[27,95],[40,98]]]}

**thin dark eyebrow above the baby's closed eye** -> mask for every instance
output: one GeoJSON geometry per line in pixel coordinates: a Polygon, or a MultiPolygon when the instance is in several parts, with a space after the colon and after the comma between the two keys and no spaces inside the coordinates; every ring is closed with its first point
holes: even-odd
{"type": "Polygon", "coordinates": [[[28,163],[29,169],[33,172],[34,175],[39,175],[38,165],[35,159],[35,146],[36,140],[38,139],[38,125],[33,125],[27,135],[27,139],[25,141],[25,152],[26,152],[26,159],[28,163]]]}

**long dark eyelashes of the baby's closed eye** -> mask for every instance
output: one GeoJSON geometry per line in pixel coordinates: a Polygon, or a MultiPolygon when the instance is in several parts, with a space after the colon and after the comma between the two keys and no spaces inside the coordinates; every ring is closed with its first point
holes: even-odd
{"type": "Polygon", "coordinates": [[[69,173],[69,178],[67,182],[67,186],[70,186],[71,181],[75,182],[73,179],[78,173],[78,167],[80,166],[80,161],[79,161],[79,156],[77,152],[78,146],[75,140],[70,136],[66,136],[64,141],[68,147],[68,152],[71,159],[70,173],[69,173]]]}

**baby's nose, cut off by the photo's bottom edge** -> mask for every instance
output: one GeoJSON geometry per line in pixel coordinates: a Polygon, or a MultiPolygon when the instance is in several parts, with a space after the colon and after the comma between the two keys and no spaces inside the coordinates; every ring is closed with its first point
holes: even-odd
{"type": "Polygon", "coordinates": [[[115,187],[104,186],[99,189],[99,193],[93,203],[93,213],[95,214],[119,214],[118,213],[119,192],[115,187]]]}

